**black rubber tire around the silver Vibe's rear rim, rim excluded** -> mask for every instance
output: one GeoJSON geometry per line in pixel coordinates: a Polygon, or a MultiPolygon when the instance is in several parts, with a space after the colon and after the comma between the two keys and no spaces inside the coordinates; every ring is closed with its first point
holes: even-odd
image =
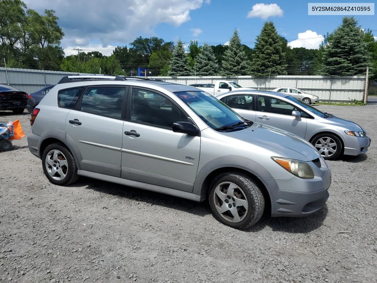
{"type": "Polygon", "coordinates": [[[80,177],[79,175],[77,175],[77,165],[76,165],[76,161],[75,161],[74,156],[69,151],[69,149],[61,143],[52,143],[51,145],[48,145],[44,149],[43,155],[42,155],[42,167],[43,167],[44,175],[46,175],[48,180],[51,183],[53,183],[54,185],[66,186],[66,185],[74,183],[80,177]],[[68,163],[67,175],[63,180],[55,180],[47,172],[46,156],[49,153],[49,151],[51,151],[53,149],[57,149],[58,151],[63,153],[64,156],[66,157],[66,160],[67,160],[67,163],[68,163]]]}

